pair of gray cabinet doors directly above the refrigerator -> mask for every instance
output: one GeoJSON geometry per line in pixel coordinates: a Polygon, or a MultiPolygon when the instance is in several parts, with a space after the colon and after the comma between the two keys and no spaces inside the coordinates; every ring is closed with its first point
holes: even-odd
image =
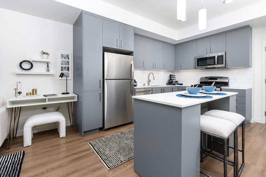
{"type": "Polygon", "coordinates": [[[129,51],[134,50],[133,28],[108,20],[103,20],[102,25],[103,46],[129,51]]]}

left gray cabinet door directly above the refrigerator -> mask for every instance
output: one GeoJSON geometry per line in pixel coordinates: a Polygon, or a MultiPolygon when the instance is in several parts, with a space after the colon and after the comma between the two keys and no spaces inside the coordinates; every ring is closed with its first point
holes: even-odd
{"type": "Polygon", "coordinates": [[[102,45],[119,49],[119,24],[103,20],[102,25],[102,45]]]}

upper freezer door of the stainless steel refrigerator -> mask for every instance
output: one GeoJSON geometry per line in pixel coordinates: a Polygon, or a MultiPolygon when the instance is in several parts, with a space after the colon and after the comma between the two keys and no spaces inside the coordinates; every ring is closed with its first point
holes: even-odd
{"type": "Polygon", "coordinates": [[[103,53],[103,79],[133,79],[133,56],[103,53]]]}

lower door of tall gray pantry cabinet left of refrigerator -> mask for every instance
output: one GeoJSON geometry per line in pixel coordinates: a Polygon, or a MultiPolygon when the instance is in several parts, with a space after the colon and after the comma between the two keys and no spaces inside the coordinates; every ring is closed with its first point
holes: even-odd
{"type": "Polygon", "coordinates": [[[84,92],[84,131],[102,127],[102,90],[84,92]]]}

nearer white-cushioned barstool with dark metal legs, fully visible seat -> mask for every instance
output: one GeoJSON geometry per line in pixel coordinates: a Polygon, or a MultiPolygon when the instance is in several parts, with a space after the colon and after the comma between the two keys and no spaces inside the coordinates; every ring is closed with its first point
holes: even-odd
{"type": "MultiPolygon", "coordinates": [[[[234,176],[238,176],[237,174],[237,146],[235,146],[234,150],[234,162],[227,159],[227,139],[234,133],[234,144],[237,144],[237,138],[236,138],[236,125],[228,120],[212,117],[212,116],[207,116],[207,115],[201,115],[200,118],[200,126],[201,126],[201,162],[206,159],[207,156],[213,157],[219,161],[223,162],[223,172],[224,176],[227,176],[227,164],[234,166],[234,176]],[[223,152],[223,157],[214,154],[211,151],[208,151],[206,149],[203,149],[203,133],[206,135],[210,135],[211,137],[217,137],[220,139],[223,139],[223,146],[224,146],[224,152],[223,152]],[[206,156],[203,159],[203,154],[206,156]]],[[[200,170],[200,172],[206,176],[211,176],[207,174],[206,172],[203,172],[200,170]]]]}

